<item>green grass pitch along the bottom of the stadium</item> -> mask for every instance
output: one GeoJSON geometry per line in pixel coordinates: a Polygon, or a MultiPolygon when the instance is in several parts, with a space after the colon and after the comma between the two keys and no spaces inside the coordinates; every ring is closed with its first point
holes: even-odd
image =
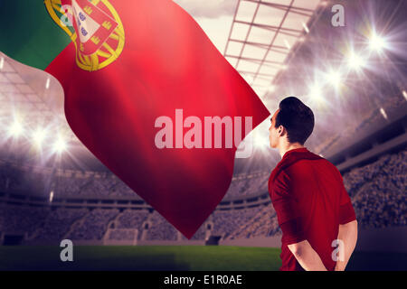
{"type": "MultiPolygon", "coordinates": [[[[0,246],[0,270],[205,270],[273,271],[280,250],[229,246],[76,246],[73,262],[62,262],[62,247],[0,246]]],[[[359,253],[350,270],[406,270],[407,254],[359,253]]]]}

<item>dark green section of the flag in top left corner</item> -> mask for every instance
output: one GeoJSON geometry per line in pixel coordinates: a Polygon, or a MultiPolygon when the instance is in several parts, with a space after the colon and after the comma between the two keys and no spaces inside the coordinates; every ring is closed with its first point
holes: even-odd
{"type": "Polygon", "coordinates": [[[0,51],[44,70],[71,42],[43,0],[0,0],[0,51]]]}

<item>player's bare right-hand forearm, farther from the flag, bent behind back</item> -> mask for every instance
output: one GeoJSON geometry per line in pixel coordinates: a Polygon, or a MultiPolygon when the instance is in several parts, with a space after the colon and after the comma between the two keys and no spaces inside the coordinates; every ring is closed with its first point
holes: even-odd
{"type": "MultiPolygon", "coordinates": [[[[354,252],[357,241],[357,220],[353,220],[343,225],[339,225],[339,233],[337,235],[339,240],[343,241],[343,254],[344,259],[339,258],[336,261],[335,271],[344,271],[352,253],[354,252]]],[[[340,248],[339,248],[340,249],[340,248]]],[[[341,254],[339,254],[341,256],[341,254]]]]}

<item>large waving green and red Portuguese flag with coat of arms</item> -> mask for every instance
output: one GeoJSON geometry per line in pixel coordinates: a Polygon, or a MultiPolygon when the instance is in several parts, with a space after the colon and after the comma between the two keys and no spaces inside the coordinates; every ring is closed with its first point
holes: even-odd
{"type": "Polygon", "coordinates": [[[228,190],[241,138],[270,115],[170,0],[2,0],[0,51],[61,82],[81,143],[186,238],[228,190]]]}

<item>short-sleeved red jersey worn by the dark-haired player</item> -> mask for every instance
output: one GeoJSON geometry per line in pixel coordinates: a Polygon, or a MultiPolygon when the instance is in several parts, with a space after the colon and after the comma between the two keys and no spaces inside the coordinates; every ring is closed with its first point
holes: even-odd
{"type": "Polygon", "coordinates": [[[304,240],[334,270],[339,224],[356,219],[336,166],[306,147],[289,150],[271,172],[269,192],[282,231],[280,270],[303,270],[288,245],[304,240]]]}

